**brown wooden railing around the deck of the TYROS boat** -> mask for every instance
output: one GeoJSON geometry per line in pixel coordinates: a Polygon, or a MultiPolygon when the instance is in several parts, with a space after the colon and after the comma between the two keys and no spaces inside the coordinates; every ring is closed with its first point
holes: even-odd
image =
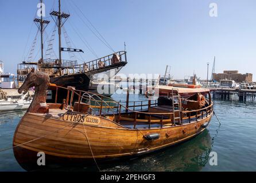
{"type": "MultiPolygon", "coordinates": [[[[147,122],[148,128],[151,128],[152,124],[161,124],[161,128],[164,125],[176,126],[177,121],[173,120],[173,115],[176,114],[176,110],[174,112],[145,112],[148,110],[139,111],[136,108],[143,108],[143,106],[147,106],[147,109],[152,108],[152,106],[157,106],[156,100],[148,100],[147,104],[144,104],[143,101],[141,105],[138,105],[139,101],[131,101],[127,102],[126,106],[124,106],[123,102],[114,101],[112,98],[101,96],[100,94],[95,94],[91,92],[85,92],[83,90],[75,90],[73,87],[61,87],[56,86],[56,96],[55,103],[57,102],[57,93],[59,88],[63,88],[68,90],[67,98],[65,99],[65,106],[69,109],[72,109],[73,105],[73,97],[76,94],[78,96],[79,105],[82,103],[86,103],[89,105],[90,109],[94,109],[94,114],[99,116],[111,116],[113,115],[113,121],[116,123],[120,123],[122,121],[130,121],[134,122],[134,128],[136,128],[139,122],[147,122]],[[69,100],[69,98],[71,98],[69,100]],[[129,105],[129,103],[133,103],[133,105],[129,105]],[[134,110],[130,109],[133,108],[134,110]],[[175,113],[175,114],[174,114],[175,113]]],[[[209,93],[210,94],[210,93],[209,93]]],[[[213,104],[211,102],[211,98],[209,100],[209,105],[203,109],[198,110],[181,110],[180,113],[180,122],[179,125],[183,124],[184,121],[188,123],[196,122],[198,120],[203,119],[204,117],[208,117],[213,113],[213,104]]]]}

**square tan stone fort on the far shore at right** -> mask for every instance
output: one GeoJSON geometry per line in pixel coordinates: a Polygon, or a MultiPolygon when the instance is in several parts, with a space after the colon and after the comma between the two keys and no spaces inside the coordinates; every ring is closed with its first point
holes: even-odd
{"type": "Polygon", "coordinates": [[[223,73],[214,73],[214,80],[220,81],[220,79],[232,79],[235,82],[251,83],[253,82],[253,74],[241,74],[238,73],[238,70],[224,70],[223,73]]]}

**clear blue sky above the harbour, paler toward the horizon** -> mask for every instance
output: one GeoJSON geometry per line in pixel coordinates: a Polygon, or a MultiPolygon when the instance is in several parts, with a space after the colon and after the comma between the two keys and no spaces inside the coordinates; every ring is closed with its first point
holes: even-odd
{"type": "MultiPolygon", "coordinates": [[[[77,36],[71,23],[97,55],[101,57],[112,53],[84,25],[77,14],[80,17],[83,15],[73,9],[71,1],[62,1],[63,10],[71,14],[65,28],[75,46],[85,51],[83,58],[89,61],[95,56],[77,36]]],[[[206,78],[207,62],[210,62],[211,72],[215,55],[216,73],[239,70],[240,73],[253,73],[256,80],[255,0],[72,1],[115,51],[123,50],[123,42],[126,42],[129,64],[122,69],[122,73],[163,74],[168,64],[172,66],[174,78],[184,78],[185,75],[192,75],[193,71],[199,77],[206,78]],[[218,17],[209,15],[212,2],[218,5],[218,17]]],[[[51,21],[46,32],[50,34],[54,24],[49,11],[54,1],[44,2],[46,16],[51,21]]],[[[5,63],[5,72],[15,73],[17,63],[24,59],[24,50],[25,55],[28,53],[36,35],[37,27],[33,25],[26,46],[36,10],[37,1],[34,0],[0,1],[0,60],[5,63]]]]}

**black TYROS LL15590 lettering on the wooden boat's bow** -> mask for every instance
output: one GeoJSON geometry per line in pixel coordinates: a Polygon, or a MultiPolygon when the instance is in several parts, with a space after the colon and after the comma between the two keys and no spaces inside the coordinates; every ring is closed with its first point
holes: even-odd
{"type": "Polygon", "coordinates": [[[63,116],[64,121],[82,123],[88,125],[99,125],[100,118],[95,116],[86,116],[84,114],[65,113],[63,116]]]}

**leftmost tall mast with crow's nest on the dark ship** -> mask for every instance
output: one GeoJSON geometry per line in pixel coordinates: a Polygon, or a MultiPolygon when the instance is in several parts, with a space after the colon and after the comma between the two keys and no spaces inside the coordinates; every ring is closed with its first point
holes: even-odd
{"type": "Polygon", "coordinates": [[[40,12],[40,19],[39,18],[35,18],[34,19],[34,22],[36,23],[38,29],[40,30],[40,33],[41,33],[41,60],[44,59],[44,39],[43,39],[43,34],[44,34],[44,30],[46,28],[46,26],[50,23],[50,21],[46,21],[42,18],[42,5],[43,5],[43,2],[42,0],[40,0],[40,9],[41,9],[41,12],[40,12]],[[46,25],[46,26],[44,26],[46,25]]]}

